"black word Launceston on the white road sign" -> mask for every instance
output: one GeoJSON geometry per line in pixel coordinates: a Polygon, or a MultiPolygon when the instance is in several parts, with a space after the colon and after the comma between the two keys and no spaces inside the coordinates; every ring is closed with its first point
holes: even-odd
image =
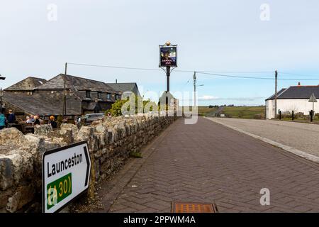
{"type": "Polygon", "coordinates": [[[79,165],[81,162],[83,162],[82,154],[77,155],[75,153],[73,157],[69,157],[68,159],[62,160],[61,162],[57,162],[52,165],[50,162],[47,162],[47,177],[54,176],[59,172],[74,167],[74,165],[79,165]]]}

